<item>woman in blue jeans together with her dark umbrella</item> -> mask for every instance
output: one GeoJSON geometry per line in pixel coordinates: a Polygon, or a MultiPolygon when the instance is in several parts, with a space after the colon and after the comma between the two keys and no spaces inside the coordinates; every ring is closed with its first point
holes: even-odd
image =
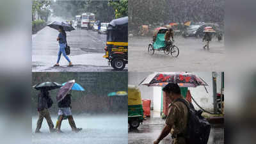
{"type": "Polygon", "coordinates": [[[58,67],[60,66],[59,62],[60,62],[60,57],[61,54],[63,54],[63,56],[66,58],[66,60],[68,61],[68,67],[72,67],[72,62],[69,60],[66,52],[65,52],[65,48],[67,47],[67,34],[65,31],[72,31],[74,30],[74,28],[72,26],[70,26],[69,24],[65,24],[64,22],[52,22],[51,24],[48,24],[47,26],[49,26],[50,28],[53,29],[57,29],[60,33],[58,35],[57,41],[59,42],[59,47],[60,50],[58,52],[58,60],[57,63],[54,65],[54,67],[58,67]]]}

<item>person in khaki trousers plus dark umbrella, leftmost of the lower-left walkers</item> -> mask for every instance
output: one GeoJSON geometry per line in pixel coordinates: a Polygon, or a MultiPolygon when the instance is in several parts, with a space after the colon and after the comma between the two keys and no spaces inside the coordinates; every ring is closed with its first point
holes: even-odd
{"type": "Polygon", "coordinates": [[[56,130],[54,129],[54,125],[52,124],[51,120],[51,115],[48,110],[49,108],[51,108],[53,103],[48,91],[60,87],[61,84],[55,82],[44,82],[33,86],[33,88],[35,88],[36,90],[40,90],[40,93],[38,93],[37,111],[39,114],[39,118],[36,123],[36,133],[40,132],[40,128],[42,126],[44,118],[47,120],[50,132],[54,132],[56,130]]]}

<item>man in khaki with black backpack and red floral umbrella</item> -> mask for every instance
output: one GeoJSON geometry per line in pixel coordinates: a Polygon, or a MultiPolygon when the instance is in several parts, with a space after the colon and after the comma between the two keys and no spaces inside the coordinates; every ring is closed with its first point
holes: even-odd
{"type": "Polygon", "coordinates": [[[208,86],[200,77],[186,72],[159,72],[146,77],[141,85],[161,86],[172,101],[165,125],[154,144],[172,134],[173,144],[207,143],[211,125],[196,111],[193,104],[182,97],[180,87],[208,86]]]}

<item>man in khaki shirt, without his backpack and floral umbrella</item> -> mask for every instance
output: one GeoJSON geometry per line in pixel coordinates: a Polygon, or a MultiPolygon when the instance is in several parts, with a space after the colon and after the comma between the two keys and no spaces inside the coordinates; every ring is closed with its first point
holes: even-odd
{"type": "Polygon", "coordinates": [[[154,141],[154,144],[159,143],[169,133],[172,134],[172,144],[186,144],[186,140],[183,135],[186,132],[186,125],[188,123],[188,108],[184,103],[179,101],[176,102],[177,99],[184,99],[180,94],[180,87],[178,84],[169,83],[163,88],[163,91],[170,100],[172,100],[172,104],[169,106],[164,129],[157,140],[154,141]]]}

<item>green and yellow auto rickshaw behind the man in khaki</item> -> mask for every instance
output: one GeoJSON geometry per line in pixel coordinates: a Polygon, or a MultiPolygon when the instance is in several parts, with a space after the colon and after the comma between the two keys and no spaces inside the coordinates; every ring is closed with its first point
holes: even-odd
{"type": "Polygon", "coordinates": [[[136,129],[143,122],[143,106],[138,87],[128,85],[128,124],[130,129],[136,129]]]}

